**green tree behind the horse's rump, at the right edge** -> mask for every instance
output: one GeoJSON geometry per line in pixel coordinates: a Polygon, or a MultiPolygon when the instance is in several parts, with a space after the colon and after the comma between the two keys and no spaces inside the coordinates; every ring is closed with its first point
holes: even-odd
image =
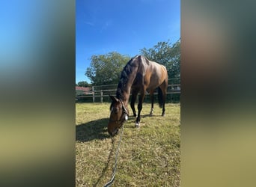
{"type": "Polygon", "coordinates": [[[169,40],[158,42],[153,48],[143,48],[140,52],[150,61],[164,65],[169,79],[180,78],[180,40],[172,46],[169,40]]]}

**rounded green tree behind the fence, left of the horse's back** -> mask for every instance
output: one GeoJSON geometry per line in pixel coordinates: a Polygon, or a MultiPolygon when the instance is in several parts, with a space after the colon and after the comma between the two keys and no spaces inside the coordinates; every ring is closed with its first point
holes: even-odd
{"type": "Polygon", "coordinates": [[[85,76],[93,85],[117,84],[121,71],[130,57],[118,52],[109,52],[106,55],[92,55],[91,67],[88,67],[85,76]]]}

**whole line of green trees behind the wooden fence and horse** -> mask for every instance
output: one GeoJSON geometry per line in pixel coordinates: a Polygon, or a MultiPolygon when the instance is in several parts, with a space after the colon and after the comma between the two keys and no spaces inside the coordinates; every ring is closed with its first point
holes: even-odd
{"type": "MultiPolygon", "coordinates": [[[[156,61],[166,67],[168,78],[180,78],[180,39],[171,45],[170,41],[158,42],[150,49],[140,49],[150,61],[156,61]]],[[[87,68],[85,76],[91,80],[78,82],[77,86],[88,87],[91,85],[112,85],[118,84],[121,71],[127,64],[128,55],[121,55],[118,52],[109,52],[105,55],[92,55],[90,67],[87,68]]]]}

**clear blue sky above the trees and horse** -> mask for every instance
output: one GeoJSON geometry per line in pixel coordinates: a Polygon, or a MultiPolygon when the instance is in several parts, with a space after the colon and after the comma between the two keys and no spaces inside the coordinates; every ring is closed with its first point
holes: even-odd
{"type": "Polygon", "coordinates": [[[178,0],[76,0],[76,83],[92,55],[119,52],[130,57],[159,41],[180,38],[178,0]]]}

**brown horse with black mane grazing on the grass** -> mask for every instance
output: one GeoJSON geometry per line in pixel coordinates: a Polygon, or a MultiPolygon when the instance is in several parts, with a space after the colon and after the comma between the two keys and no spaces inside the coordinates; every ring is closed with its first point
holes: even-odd
{"type": "Polygon", "coordinates": [[[159,106],[162,108],[162,116],[165,115],[165,95],[168,86],[168,73],[164,66],[156,62],[149,61],[141,55],[136,55],[129,60],[124,70],[121,73],[121,78],[118,83],[118,91],[116,96],[110,96],[112,104],[110,105],[111,114],[109,117],[108,132],[110,135],[115,135],[118,129],[123,125],[125,120],[128,120],[129,109],[129,94],[132,91],[131,108],[133,116],[136,117],[135,99],[140,92],[138,98],[138,117],[135,122],[135,127],[139,126],[141,120],[142,102],[144,95],[150,93],[151,111],[153,114],[153,92],[158,88],[159,106]]]}

